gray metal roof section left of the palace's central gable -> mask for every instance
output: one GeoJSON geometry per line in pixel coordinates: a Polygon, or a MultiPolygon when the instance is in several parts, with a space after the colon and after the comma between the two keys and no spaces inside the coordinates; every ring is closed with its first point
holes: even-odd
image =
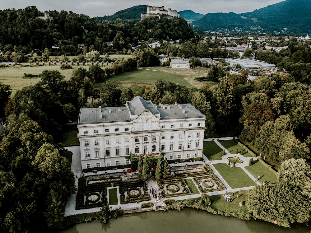
{"type": "Polygon", "coordinates": [[[127,107],[102,108],[101,114],[102,118],[100,118],[99,108],[82,108],[78,124],[131,121],[127,107]],[[121,111],[118,111],[118,108],[121,111]],[[109,113],[109,109],[111,109],[111,113],[109,113]]]}

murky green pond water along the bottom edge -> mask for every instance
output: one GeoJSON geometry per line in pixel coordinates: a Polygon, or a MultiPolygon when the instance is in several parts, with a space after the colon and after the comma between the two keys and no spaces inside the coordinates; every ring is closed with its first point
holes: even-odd
{"type": "Polygon", "coordinates": [[[204,211],[185,209],[125,214],[107,224],[100,221],[81,223],[62,233],[307,233],[303,227],[281,228],[262,221],[243,221],[204,211]]]}

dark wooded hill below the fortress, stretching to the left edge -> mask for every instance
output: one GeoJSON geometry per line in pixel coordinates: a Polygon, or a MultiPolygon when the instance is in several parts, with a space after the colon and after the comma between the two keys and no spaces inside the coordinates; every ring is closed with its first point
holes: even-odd
{"type": "Polygon", "coordinates": [[[51,49],[52,45],[59,44],[60,49],[55,49],[55,52],[78,55],[83,52],[78,44],[86,44],[86,50],[93,45],[92,49],[106,53],[131,49],[133,39],[188,40],[194,36],[192,28],[182,18],[153,17],[136,23],[99,21],[66,11],[50,11],[49,14],[53,17],[51,21],[36,18],[43,16],[43,12],[35,6],[0,11],[0,50],[29,53],[34,49],[51,49]],[[113,48],[104,43],[114,40],[117,43],[113,48]]]}

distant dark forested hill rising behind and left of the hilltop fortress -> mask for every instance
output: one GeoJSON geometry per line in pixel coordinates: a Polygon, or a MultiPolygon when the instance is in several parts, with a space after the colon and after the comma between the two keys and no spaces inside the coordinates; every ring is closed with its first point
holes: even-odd
{"type": "Polygon", "coordinates": [[[114,13],[113,15],[106,15],[102,17],[95,17],[95,19],[98,20],[116,20],[116,19],[122,19],[123,21],[127,20],[134,20],[134,21],[140,21],[141,14],[147,13],[147,6],[146,5],[139,5],[135,7],[130,7],[122,11],[118,11],[114,13]]]}

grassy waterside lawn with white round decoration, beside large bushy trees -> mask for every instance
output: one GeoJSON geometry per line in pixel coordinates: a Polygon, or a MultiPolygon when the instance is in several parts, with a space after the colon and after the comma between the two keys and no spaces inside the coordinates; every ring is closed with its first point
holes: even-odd
{"type": "MultiPolygon", "coordinates": [[[[214,195],[211,197],[211,207],[216,211],[222,212],[233,212],[237,213],[241,216],[248,213],[247,207],[245,206],[246,193],[248,191],[243,191],[243,194],[239,194],[239,192],[234,193],[234,200],[232,202],[227,202],[223,195],[214,195]],[[239,195],[239,198],[236,198],[236,195],[239,195]],[[244,205],[239,206],[239,202],[242,202],[244,205]]],[[[232,193],[230,193],[232,194],[232,193]]]]}

